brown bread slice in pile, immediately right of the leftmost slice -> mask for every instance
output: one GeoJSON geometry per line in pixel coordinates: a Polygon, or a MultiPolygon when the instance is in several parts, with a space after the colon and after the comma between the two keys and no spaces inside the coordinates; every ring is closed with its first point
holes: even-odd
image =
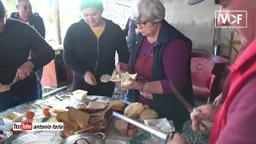
{"type": "Polygon", "coordinates": [[[69,110],[69,116],[73,122],[78,123],[78,126],[80,126],[82,129],[86,129],[89,123],[90,114],[71,107],[69,110]]]}

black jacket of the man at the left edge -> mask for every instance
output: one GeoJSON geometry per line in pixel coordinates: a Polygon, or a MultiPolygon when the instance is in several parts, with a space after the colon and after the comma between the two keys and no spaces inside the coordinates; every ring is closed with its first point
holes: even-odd
{"type": "MultiPolygon", "coordinates": [[[[52,47],[36,30],[24,22],[8,18],[6,27],[0,34],[0,83],[6,85],[13,82],[18,68],[27,62],[30,50],[38,54],[38,57],[30,59],[34,63],[34,71],[55,57],[52,47]]],[[[2,94],[18,95],[21,90],[29,90],[38,82],[34,71],[30,77],[18,81],[10,91],[2,94]]]]}

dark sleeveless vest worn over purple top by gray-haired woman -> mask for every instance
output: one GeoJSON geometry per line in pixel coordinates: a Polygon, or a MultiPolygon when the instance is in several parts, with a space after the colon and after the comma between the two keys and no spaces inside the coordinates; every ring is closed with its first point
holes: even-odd
{"type": "MultiPolygon", "coordinates": [[[[132,54],[131,61],[133,69],[144,38],[145,37],[142,36],[142,34],[137,34],[134,40],[134,52],[132,54]]],[[[158,40],[156,42],[156,46],[154,47],[154,60],[151,81],[159,81],[166,78],[166,74],[164,73],[162,66],[162,53],[165,50],[166,46],[177,38],[182,38],[184,41],[189,42],[190,49],[192,49],[192,42],[190,41],[190,39],[186,38],[186,36],[184,36],[181,32],[179,32],[173,26],[170,26],[170,24],[163,20],[158,40]]],[[[179,92],[180,94],[182,94],[183,98],[185,98],[187,102],[194,106],[194,93],[191,82],[190,62],[187,63],[187,67],[189,70],[187,72],[187,83],[183,90],[179,92]]],[[[174,94],[153,94],[153,103],[153,109],[158,112],[159,117],[173,120],[174,125],[178,122],[185,122],[190,118],[190,113],[186,111],[185,107],[182,106],[181,102],[178,101],[174,94]]]]}

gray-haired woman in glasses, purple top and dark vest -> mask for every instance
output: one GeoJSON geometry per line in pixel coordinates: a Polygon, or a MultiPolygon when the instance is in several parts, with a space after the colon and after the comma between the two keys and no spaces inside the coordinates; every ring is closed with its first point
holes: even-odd
{"type": "Polygon", "coordinates": [[[134,38],[131,62],[118,63],[117,69],[137,73],[138,80],[130,79],[132,84],[122,90],[136,90],[135,98],[130,98],[132,102],[150,106],[160,118],[172,120],[176,131],[181,132],[190,113],[174,96],[170,82],[194,106],[190,76],[192,42],[166,22],[165,7],[158,0],[138,0],[131,18],[139,33],[134,38]]]}

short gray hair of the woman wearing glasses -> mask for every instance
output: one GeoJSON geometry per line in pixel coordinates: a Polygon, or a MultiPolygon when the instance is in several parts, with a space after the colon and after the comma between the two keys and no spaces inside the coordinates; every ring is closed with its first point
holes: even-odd
{"type": "Polygon", "coordinates": [[[146,18],[150,22],[161,22],[166,16],[166,9],[159,0],[137,0],[132,7],[131,19],[138,22],[146,18]]]}

